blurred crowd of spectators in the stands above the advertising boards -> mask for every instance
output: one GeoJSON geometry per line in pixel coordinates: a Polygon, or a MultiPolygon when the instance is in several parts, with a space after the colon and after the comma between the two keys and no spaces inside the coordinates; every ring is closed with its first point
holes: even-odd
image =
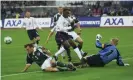
{"type": "MultiPolygon", "coordinates": [[[[33,8],[33,6],[49,6],[47,2],[48,1],[2,1],[1,18],[23,18],[26,10],[31,10],[33,17],[52,17],[57,12],[56,8],[33,8]]],[[[71,7],[73,14],[76,16],[100,17],[133,15],[133,1],[121,1],[119,3],[97,1],[95,4],[86,3],[86,1],[78,1],[68,4],[77,6],[71,7]],[[78,7],[78,5],[82,7],[78,7]]]]}

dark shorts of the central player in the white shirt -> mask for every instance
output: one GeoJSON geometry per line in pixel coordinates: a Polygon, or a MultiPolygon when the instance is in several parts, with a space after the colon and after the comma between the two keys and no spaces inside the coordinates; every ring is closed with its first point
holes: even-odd
{"type": "Polygon", "coordinates": [[[57,32],[55,35],[55,40],[58,46],[61,46],[66,40],[72,39],[72,36],[68,35],[65,32],[57,32]]]}

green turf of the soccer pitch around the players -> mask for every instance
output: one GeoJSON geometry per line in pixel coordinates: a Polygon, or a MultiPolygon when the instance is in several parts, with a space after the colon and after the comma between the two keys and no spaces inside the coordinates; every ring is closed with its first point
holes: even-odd
{"type": "MultiPolygon", "coordinates": [[[[95,54],[98,51],[95,48],[95,35],[97,33],[103,36],[102,42],[107,42],[112,37],[118,37],[120,39],[118,49],[122,57],[126,59],[124,62],[130,64],[129,67],[119,67],[113,61],[104,68],[82,68],[75,72],[56,73],[41,72],[36,64],[33,64],[26,73],[21,73],[26,58],[23,45],[30,42],[27,33],[24,29],[4,29],[1,32],[2,80],[133,80],[133,28],[83,28],[81,35],[84,40],[83,50],[89,54],[95,54]],[[5,36],[13,38],[12,44],[4,44],[3,38],[5,36]]],[[[45,45],[48,33],[49,29],[39,31],[40,44],[45,45]]],[[[54,36],[45,46],[52,53],[57,51],[54,36]]],[[[72,58],[73,61],[78,61],[78,57],[73,51],[72,58]]]]}

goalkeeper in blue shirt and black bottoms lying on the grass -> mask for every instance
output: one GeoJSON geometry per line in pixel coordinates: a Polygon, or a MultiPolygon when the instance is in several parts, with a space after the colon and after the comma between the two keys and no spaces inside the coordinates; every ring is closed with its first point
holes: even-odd
{"type": "Polygon", "coordinates": [[[101,38],[102,36],[100,34],[96,36],[96,47],[101,50],[95,55],[82,58],[82,63],[74,63],[75,66],[87,63],[90,67],[104,67],[106,64],[115,59],[118,66],[129,65],[123,63],[121,55],[116,48],[119,42],[118,38],[111,39],[110,44],[102,44],[100,42],[101,38]]]}

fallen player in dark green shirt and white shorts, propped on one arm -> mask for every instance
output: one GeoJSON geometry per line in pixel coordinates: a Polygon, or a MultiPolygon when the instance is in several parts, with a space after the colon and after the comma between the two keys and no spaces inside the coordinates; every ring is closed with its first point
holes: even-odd
{"type": "Polygon", "coordinates": [[[50,51],[44,47],[34,47],[33,44],[26,44],[24,47],[27,51],[27,63],[22,72],[26,72],[33,62],[36,62],[36,64],[38,64],[43,71],[57,72],[76,70],[76,68],[72,64],[55,62],[50,56],[50,51]]]}

